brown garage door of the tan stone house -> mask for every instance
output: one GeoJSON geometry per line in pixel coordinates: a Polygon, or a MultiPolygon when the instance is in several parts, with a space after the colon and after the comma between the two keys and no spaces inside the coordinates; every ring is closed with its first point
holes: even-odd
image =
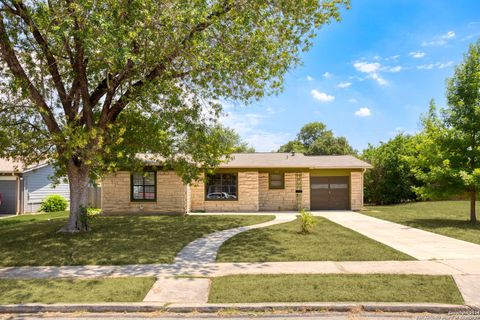
{"type": "Polygon", "coordinates": [[[349,177],[310,177],[310,208],[350,209],[349,180],[349,177]]]}

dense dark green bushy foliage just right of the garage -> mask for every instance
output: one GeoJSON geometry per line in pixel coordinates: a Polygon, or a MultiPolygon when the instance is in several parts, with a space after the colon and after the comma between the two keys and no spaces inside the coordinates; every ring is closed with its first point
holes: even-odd
{"type": "Polygon", "coordinates": [[[415,156],[415,141],[414,136],[398,134],[363,150],[362,159],[373,166],[364,175],[365,202],[396,204],[416,200],[414,188],[420,183],[408,161],[415,156]]]}

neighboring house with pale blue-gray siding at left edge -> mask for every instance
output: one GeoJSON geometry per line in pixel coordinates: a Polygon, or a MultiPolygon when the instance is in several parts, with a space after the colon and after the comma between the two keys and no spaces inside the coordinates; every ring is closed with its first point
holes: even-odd
{"type": "Polygon", "coordinates": [[[37,212],[43,199],[59,194],[70,199],[68,183],[53,186],[49,177],[53,168],[44,163],[26,167],[21,163],[0,159],[0,214],[37,212]]]}

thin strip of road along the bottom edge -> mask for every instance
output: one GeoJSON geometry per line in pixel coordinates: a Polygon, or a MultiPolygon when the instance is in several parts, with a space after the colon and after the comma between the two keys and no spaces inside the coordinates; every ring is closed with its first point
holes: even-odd
{"type": "Polygon", "coordinates": [[[442,315],[442,314],[408,314],[408,313],[296,313],[296,314],[252,314],[252,315],[207,315],[207,314],[151,314],[151,313],[76,313],[76,314],[35,314],[35,315],[0,315],[0,320],[46,320],[46,319],[63,319],[63,320],[136,320],[136,319],[150,319],[150,320],[443,320],[443,319],[458,319],[458,320],[480,320],[480,313],[471,315],[442,315]]]}

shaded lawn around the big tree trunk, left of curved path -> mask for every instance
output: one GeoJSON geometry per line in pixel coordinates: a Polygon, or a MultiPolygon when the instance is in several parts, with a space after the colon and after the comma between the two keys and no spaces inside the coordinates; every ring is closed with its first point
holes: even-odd
{"type": "Polygon", "coordinates": [[[67,213],[0,219],[0,266],[171,263],[189,242],[271,216],[95,216],[92,231],[58,234],[67,213]]]}

